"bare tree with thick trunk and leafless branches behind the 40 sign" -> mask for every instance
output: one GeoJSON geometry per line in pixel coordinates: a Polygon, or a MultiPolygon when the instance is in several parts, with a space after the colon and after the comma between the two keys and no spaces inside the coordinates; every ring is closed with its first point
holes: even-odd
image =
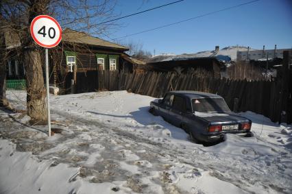
{"type": "MultiPolygon", "coordinates": [[[[107,36],[113,23],[98,25],[114,17],[116,2],[113,0],[2,0],[1,16],[6,25],[18,34],[21,45],[17,48],[22,53],[25,64],[27,84],[27,115],[32,123],[45,123],[47,111],[45,103],[45,86],[42,73],[42,51],[32,40],[29,25],[34,17],[49,14],[55,17],[62,28],[69,27],[91,35],[107,36]]],[[[2,73],[4,65],[1,65],[2,73]]]]}

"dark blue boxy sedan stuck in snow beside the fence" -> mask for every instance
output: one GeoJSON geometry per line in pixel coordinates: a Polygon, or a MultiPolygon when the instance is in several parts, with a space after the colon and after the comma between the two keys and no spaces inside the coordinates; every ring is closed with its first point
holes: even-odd
{"type": "Polygon", "coordinates": [[[203,143],[220,141],[226,133],[250,136],[252,121],[231,112],[219,95],[194,91],[173,91],[151,101],[150,110],[184,129],[203,143]]]}

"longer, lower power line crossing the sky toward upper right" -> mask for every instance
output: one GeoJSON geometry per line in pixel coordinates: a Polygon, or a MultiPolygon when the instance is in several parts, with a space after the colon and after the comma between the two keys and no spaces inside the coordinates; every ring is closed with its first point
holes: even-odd
{"type": "Polygon", "coordinates": [[[117,39],[121,39],[121,38],[127,38],[127,37],[129,37],[129,36],[134,36],[134,35],[137,35],[137,34],[142,34],[142,33],[145,33],[145,32],[150,32],[150,31],[153,31],[153,30],[156,30],[156,29],[160,29],[160,28],[162,28],[162,27],[168,27],[168,26],[171,26],[171,25],[176,25],[176,24],[178,24],[178,23],[183,23],[183,22],[190,21],[190,20],[193,20],[193,19],[198,19],[198,18],[201,18],[201,17],[203,17],[203,16],[208,16],[208,15],[211,15],[211,14],[216,14],[216,13],[218,13],[218,12],[223,12],[223,11],[226,11],[226,10],[231,10],[231,9],[233,9],[233,8],[238,8],[238,7],[242,6],[242,5],[247,5],[247,4],[250,4],[250,3],[254,3],[254,2],[256,2],[256,1],[260,1],[260,0],[248,1],[247,3],[241,3],[241,4],[239,4],[239,5],[234,5],[234,6],[232,6],[232,7],[224,8],[224,9],[222,9],[222,10],[217,10],[217,11],[214,11],[214,12],[208,12],[208,13],[206,13],[206,14],[202,14],[202,15],[199,15],[199,16],[195,16],[195,17],[190,18],[190,19],[184,19],[184,20],[182,20],[182,21],[178,21],[178,22],[175,22],[175,23],[169,23],[169,24],[167,24],[167,25],[162,25],[162,26],[160,26],[160,27],[155,27],[155,28],[151,28],[151,29],[146,29],[146,30],[144,30],[144,31],[142,31],[142,32],[137,32],[137,33],[134,33],[134,34],[129,34],[129,35],[126,35],[126,36],[122,36],[122,37],[120,37],[120,38],[115,38],[115,39],[117,40],[117,39]]]}

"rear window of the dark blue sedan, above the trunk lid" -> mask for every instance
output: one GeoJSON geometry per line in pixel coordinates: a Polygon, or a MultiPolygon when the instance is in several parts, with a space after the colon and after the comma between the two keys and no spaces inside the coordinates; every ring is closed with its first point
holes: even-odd
{"type": "Polygon", "coordinates": [[[192,99],[193,112],[227,112],[230,111],[222,98],[192,99]]]}

